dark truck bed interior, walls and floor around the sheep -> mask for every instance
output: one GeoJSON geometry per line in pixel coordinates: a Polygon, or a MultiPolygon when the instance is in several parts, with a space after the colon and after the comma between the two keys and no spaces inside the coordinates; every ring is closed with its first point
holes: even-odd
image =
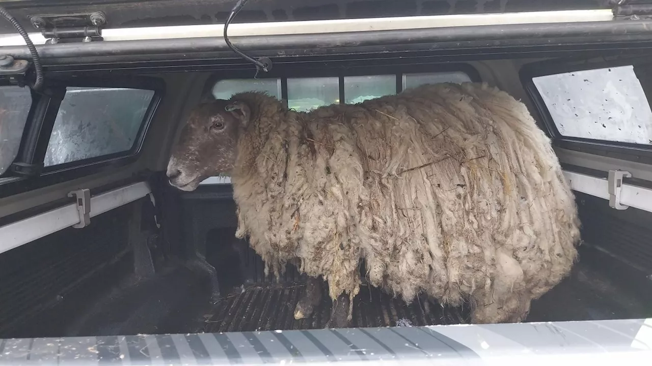
{"type": "MultiPolygon", "coordinates": [[[[174,196],[164,179],[155,191],[174,196]]],[[[331,300],[308,319],[294,307],[305,279],[289,267],[276,281],[243,240],[234,238],[235,205],[228,185],[201,186],[166,200],[151,224],[141,199],[93,220],[0,256],[0,337],[128,335],[322,328],[331,300]],[[140,219],[136,215],[140,213],[140,219]],[[102,219],[100,219],[102,218],[102,219]],[[138,222],[147,240],[130,239],[138,222]],[[175,243],[175,240],[178,242],[175,243]],[[139,253],[147,245],[151,260],[139,253]],[[197,250],[217,269],[220,297],[211,302],[209,273],[188,253],[197,250]],[[153,266],[154,273],[148,270],[153,266]]],[[[527,321],[652,317],[652,228],[649,214],[617,211],[577,193],[584,243],[580,260],[561,284],[532,303],[527,321]],[[608,221],[604,221],[608,220],[608,221]]],[[[467,322],[467,307],[424,300],[406,304],[363,285],[352,326],[409,326],[467,322]]]]}

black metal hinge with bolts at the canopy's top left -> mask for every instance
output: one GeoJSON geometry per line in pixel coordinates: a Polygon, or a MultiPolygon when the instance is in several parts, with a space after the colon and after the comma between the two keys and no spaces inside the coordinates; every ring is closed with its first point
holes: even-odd
{"type": "Polygon", "coordinates": [[[35,15],[29,16],[29,21],[48,39],[46,44],[103,40],[102,27],[107,23],[106,14],[101,11],[35,15]]]}

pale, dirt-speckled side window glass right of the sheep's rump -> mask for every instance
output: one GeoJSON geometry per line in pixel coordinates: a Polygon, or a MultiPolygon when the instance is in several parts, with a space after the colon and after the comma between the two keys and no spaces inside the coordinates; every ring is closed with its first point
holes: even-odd
{"type": "Polygon", "coordinates": [[[652,145],[652,110],[633,66],[533,78],[559,134],[652,145]]]}

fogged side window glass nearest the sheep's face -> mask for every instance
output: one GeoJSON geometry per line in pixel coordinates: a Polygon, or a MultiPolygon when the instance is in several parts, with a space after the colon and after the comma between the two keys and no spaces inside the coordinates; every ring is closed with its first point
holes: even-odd
{"type": "Polygon", "coordinates": [[[131,150],[153,96],[143,89],[68,87],[45,166],[131,150]]]}

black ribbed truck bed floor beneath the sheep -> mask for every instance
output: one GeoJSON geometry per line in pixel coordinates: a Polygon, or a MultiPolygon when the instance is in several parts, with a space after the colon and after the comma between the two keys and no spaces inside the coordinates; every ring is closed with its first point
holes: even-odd
{"type": "MultiPolygon", "coordinates": [[[[0,337],[304,330],[324,328],[331,313],[331,300],[324,293],[311,318],[295,320],[294,309],[305,285],[291,273],[287,275],[289,280],[281,283],[254,282],[231,290],[213,304],[207,274],[185,266],[171,266],[149,279],[119,280],[125,268],[132,266],[131,262],[127,256],[107,266],[87,286],[65,296],[65,301],[29,322],[20,323],[20,328],[3,331],[0,337]]],[[[532,303],[527,321],[652,317],[652,294],[628,287],[630,277],[619,277],[624,274],[625,270],[615,266],[613,260],[601,262],[596,255],[584,251],[572,274],[532,303]],[[595,266],[589,266],[592,263],[595,266]]],[[[408,305],[363,285],[355,298],[351,326],[460,324],[466,322],[468,313],[468,307],[430,303],[426,308],[424,299],[408,305]]]]}

